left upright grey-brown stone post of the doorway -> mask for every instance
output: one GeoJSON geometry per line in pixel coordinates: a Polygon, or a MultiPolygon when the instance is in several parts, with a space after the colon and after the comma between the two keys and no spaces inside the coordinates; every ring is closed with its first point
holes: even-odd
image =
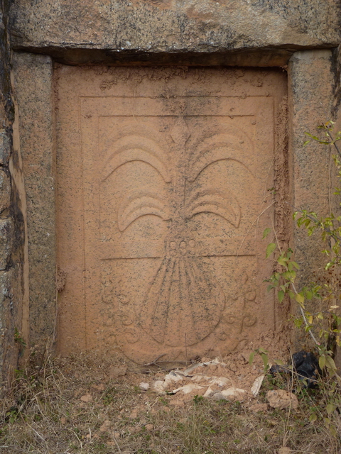
{"type": "Polygon", "coordinates": [[[14,54],[18,126],[27,197],[31,342],[55,330],[55,156],[53,63],[50,57],[14,54]]]}

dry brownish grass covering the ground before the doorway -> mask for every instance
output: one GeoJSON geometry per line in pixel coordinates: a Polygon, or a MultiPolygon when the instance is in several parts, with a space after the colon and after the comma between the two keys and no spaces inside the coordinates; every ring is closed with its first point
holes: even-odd
{"type": "MultiPolygon", "coordinates": [[[[247,403],[201,398],[175,406],[169,396],[141,392],[141,372],[110,379],[113,362],[89,355],[28,361],[1,403],[0,452],[275,454],[283,445],[294,453],[341,452],[340,427],[335,437],[322,418],[309,422],[310,407],[318,410],[323,399],[318,392],[305,392],[296,411],[254,413],[247,403]]],[[[259,402],[273,385],[264,384],[259,402]]]]}

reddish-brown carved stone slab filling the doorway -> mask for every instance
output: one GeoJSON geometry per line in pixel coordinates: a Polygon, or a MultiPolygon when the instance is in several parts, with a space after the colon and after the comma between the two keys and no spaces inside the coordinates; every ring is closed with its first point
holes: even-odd
{"type": "Polygon", "coordinates": [[[183,360],[274,330],[261,235],[286,77],[58,66],[56,85],[60,353],[183,360]]]}

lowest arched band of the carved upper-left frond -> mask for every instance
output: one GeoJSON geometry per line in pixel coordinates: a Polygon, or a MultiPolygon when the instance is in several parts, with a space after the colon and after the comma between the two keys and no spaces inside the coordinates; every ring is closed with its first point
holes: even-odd
{"type": "Polygon", "coordinates": [[[134,150],[124,150],[121,153],[114,155],[112,160],[108,162],[107,167],[104,167],[104,179],[105,181],[112,172],[117,170],[121,165],[126,164],[127,162],[133,161],[142,161],[148,165],[151,165],[160,175],[163,177],[166,183],[171,182],[171,177],[168,174],[166,166],[159,160],[157,157],[148,153],[148,151],[134,149],[134,150]]]}

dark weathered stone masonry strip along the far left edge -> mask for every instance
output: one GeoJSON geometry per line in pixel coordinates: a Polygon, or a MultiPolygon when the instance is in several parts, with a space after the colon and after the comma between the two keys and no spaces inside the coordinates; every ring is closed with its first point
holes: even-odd
{"type": "MultiPolygon", "coordinates": [[[[24,287],[24,231],[21,200],[14,174],[20,166],[18,148],[13,147],[15,132],[15,108],[11,85],[11,49],[9,47],[8,6],[0,4],[0,394],[3,385],[9,383],[11,370],[18,367],[18,344],[15,328],[23,328],[24,287]],[[11,172],[11,188],[7,173],[11,172]],[[10,194],[11,192],[11,194],[10,194]],[[11,196],[11,206],[9,198],[11,196]],[[9,210],[7,209],[9,208],[9,210]],[[11,216],[9,216],[9,213],[11,216]],[[4,271],[6,269],[6,271],[4,271]]],[[[26,337],[27,340],[27,337],[26,337]]],[[[22,351],[22,350],[21,350],[22,351]]]]}

